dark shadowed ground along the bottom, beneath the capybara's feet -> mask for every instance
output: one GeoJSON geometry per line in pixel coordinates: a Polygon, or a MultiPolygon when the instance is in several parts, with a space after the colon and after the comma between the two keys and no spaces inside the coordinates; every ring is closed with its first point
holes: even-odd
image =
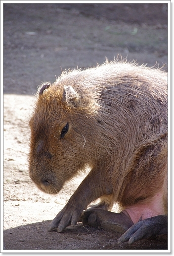
{"type": "Polygon", "coordinates": [[[78,223],[62,233],[48,232],[50,221],[32,223],[4,231],[6,250],[167,250],[164,241],[146,239],[132,245],[117,243],[121,234],[84,227],[78,223]],[[14,239],[15,237],[15,239],[14,239]]]}

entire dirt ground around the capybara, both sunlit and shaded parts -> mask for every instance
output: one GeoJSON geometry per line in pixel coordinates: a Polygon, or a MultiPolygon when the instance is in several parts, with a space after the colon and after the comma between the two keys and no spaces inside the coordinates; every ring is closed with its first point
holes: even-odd
{"type": "Polygon", "coordinates": [[[167,4],[4,3],[3,22],[3,252],[167,252],[167,242],[119,245],[120,234],[82,223],[48,232],[85,174],[57,195],[44,194],[29,178],[27,159],[37,86],[54,82],[61,69],[102,64],[120,54],[168,70],[167,4]]]}

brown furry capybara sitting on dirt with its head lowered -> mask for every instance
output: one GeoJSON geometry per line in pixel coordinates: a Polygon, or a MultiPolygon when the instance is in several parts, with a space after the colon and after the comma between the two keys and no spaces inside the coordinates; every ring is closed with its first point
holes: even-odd
{"type": "Polygon", "coordinates": [[[40,86],[29,122],[31,179],[55,194],[90,168],[49,231],[83,221],[124,233],[119,243],[167,234],[167,84],[160,68],[114,60],[40,86]],[[115,202],[120,213],[109,211],[115,202]]]}

